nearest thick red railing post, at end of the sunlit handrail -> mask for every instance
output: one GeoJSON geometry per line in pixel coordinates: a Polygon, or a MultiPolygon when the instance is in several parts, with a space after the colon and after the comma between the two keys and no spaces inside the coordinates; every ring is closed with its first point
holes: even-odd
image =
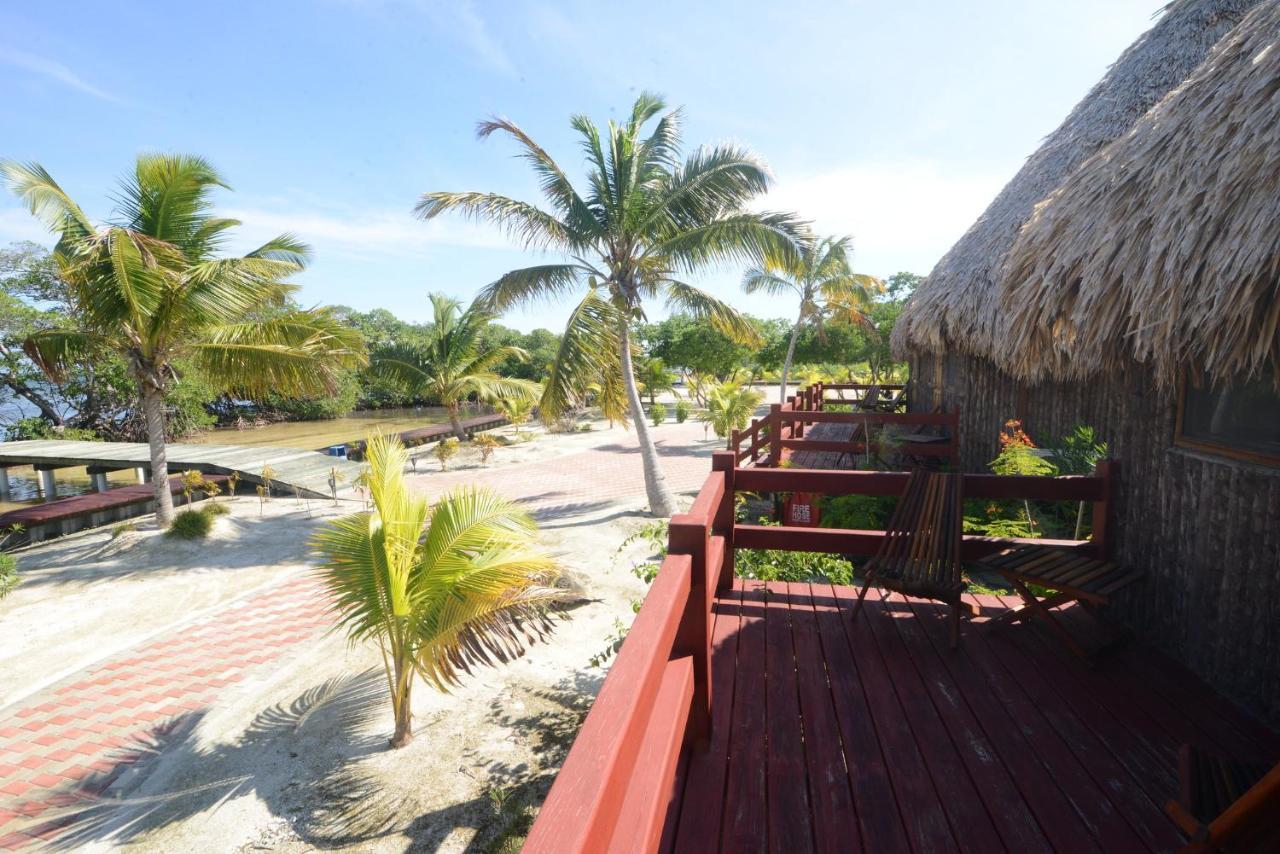
{"type": "Polygon", "coordinates": [[[710,519],[676,513],[667,534],[668,554],[690,558],[689,600],[676,630],[672,658],[694,659],[694,700],[689,707],[689,729],[685,743],[705,741],[712,730],[712,629],[710,602],[707,590],[707,547],[710,519]]]}

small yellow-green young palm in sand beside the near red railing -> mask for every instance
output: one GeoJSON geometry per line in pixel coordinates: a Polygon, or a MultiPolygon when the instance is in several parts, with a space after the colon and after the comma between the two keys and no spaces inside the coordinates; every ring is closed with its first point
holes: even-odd
{"type": "Polygon", "coordinates": [[[366,453],[374,510],[326,525],[312,545],[338,625],[383,650],[390,744],[402,748],[413,737],[415,675],[448,690],[458,671],[520,656],[530,631],[549,627],[557,568],[515,503],[463,487],[431,507],[404,484],[398,438],[371,437],[366,453]]]}

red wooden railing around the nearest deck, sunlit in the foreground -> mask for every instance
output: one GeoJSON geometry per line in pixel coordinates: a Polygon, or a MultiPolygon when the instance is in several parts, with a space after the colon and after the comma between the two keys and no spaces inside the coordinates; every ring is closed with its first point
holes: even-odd
{"type": "MultiPolygon", "coordinates": [[[[687,513],[671,520],[668,556],[609,670],[590,713],[525,842],[525,851],[657,850],[678,805],[687,750],[710,734],[710,608],[733,580],[739,548],[873,554],[884,531],[741,525],[733,495],[813,492],[900,495],[905,472],[740,469],[733,451],[713,455],[712,474],[687,513]]],[[[1107,519],[1116,467],[1093,476],[964,475],[972,498],[1093,502],[1093,539],[1062,545],[1107,553],[1107,519]]],[[[1021,540],[965,536],[966,558],[1021,540]]],[[[1034,540],[1046,543],[1050,540],[1034,540]]],[[[763,702],[763,699],[760,700],[763,702]]]]}

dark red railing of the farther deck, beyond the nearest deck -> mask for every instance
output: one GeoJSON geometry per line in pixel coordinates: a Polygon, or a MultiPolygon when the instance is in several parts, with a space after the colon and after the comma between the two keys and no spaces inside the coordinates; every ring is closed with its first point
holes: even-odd
{"type": "Polygon", "coordinates": [[[960,411],[951,412],[906,412],[904,385],[868,385],[846,383],[824,385],[815,383],[787,398],[786,403],[773,403],[763,419],[753,419],[750,426],[733,430],[728,449],[735,455],[735,462],[749,466],[777,467],[782,463],[786,451],[832,451],[858,455],[867,452],[867,437],[872,426],[896,424],[904,426],[937,426],[946,431],[941,442],[913,442],[913,457],[954,458],[957,448],[960,411]],[[888,393],[886,399],[868,401],[868,393],[876,389],[888,393]],[[828,392],[844,394],[854,392],[854,397],[829,397],[828,392]],[[829,405],[851,405],[852,412],[832,412],[829,405]],[[863,428],[860,439],[831,440],[805,437],[810,424],[851,424],[863,428]]]}

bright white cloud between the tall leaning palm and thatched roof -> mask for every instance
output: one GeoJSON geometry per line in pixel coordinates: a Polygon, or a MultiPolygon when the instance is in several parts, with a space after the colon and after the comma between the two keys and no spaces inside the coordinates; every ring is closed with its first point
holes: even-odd
{"type": "Polygon", "coordinates": [[[851,234],[855,268],[928,273],[1009,179],[960,173],[933,160],[884,160],[781,177],[764,200],[813,220],[819,234],[851,234]]]}

